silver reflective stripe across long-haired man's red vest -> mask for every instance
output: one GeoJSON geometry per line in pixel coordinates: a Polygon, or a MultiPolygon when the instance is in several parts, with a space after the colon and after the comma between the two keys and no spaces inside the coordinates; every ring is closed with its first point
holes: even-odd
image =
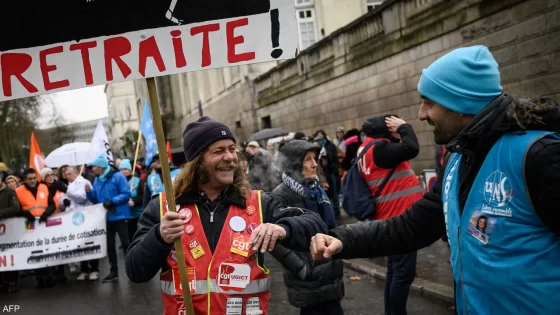
{"type": "MultiPolygon", "coordinates": [[[[216,280],[197,280],[195,281],[196,287],[195,292],[193,295],[196,294],[203,294],[206,295],[209,292],[211,293],[220,293],[220,294],[231,294],[231,291],[226,291],[218,285],[216,280]],[[208,289],[208,282],[210,283],[210,289],[208,289]]],[[[178,295],[175,292],[175,284],[173,281],[165,281],[160,280],[160,288],[161,292],[167,295],[178,295]]],[[[262,293],[270,290],[270,281],[268,278],[265,279],[257,279],[249,282],[247,287],[243,289],[243,291],[235,291],[235,294],[257,294],[262,293]]]]}

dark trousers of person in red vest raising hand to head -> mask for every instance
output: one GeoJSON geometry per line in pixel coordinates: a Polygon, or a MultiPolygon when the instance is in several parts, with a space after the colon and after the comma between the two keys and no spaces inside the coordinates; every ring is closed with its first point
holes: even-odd
{"type": "Polygon", "coordinates": [[[406,315],[410,285],[416,276],[416,252],[387,257],[385,315],[406,315]]]}

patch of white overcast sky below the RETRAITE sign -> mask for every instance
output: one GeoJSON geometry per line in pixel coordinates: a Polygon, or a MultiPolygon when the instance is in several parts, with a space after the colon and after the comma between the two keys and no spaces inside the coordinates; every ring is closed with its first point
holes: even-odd
{"type": "MultiPolygon", "coordinates": [[[[50,95],[57,111],[67,123],[77,123],[107,117],[107,96],[105,85],[87,87],[50,95]]],[[[49,106],[44,106],[42,117],[48,117],[49,106]]],[[[51,116],[52,117],[52,116],[51,116]]],[[[41,128],[48,127],[48,122],[40,121],[41,128]]]]}

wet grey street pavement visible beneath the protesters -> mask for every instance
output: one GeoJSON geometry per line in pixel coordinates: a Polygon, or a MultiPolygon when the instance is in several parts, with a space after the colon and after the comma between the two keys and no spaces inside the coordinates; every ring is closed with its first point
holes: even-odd
{"type": "MultiPolygon", "coordinates": [[[[119,252],[119,276],[115,283],[76,282],[76,276],[69,276],[65,284],[50,289],[36,289],[33,276],[20,279],[19,292],[11,295],[0,293],[0,307],[19,305],[17,314],[57,314],[57,315],[127,315],[162,314],[162,303],[157,276],[149,283],[134,284],[128,280],[124,270],[124,258],[119,252]]],[[[271,256],[265,263],[271,270],[272,297],[270,315],[297,315],[298,309],[287,300],[286,288],[282,281],[282,267],[271,256]]],[[[102,259],[101,277],[106,276],[109,267],[107,259],[102,259]]],[[[68,275],[68,272],[67,272],[68,275]]],[[[344,272],[346,297],[342,306],[346,314],[383,314],[383,282],[346,269],[344,272]],[[355,277],[351,280],[350,277],[355,277]]],[[[450,315],[449,305],[442,305],[411,293],[408,300],[410,315],[450,315]]]]}

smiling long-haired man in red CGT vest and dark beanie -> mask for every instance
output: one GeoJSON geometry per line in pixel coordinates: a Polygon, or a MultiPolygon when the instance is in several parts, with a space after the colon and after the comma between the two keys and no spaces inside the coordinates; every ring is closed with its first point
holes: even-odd
{"type": "Polygon", "coordinates": [[[277,243],[306,251],[327,226],[313,212],[251,191],[226,125],[208,117],[190,123],[183,150],[187,164],[173,185],[178,212],[167,211],[164,193],[150,201],[126,255],[128,277],[148,282],[161,270],[164,315],[185,313],[173,246],[180,238],[196,314],[268,314],[264,253],[277,243]]]}

